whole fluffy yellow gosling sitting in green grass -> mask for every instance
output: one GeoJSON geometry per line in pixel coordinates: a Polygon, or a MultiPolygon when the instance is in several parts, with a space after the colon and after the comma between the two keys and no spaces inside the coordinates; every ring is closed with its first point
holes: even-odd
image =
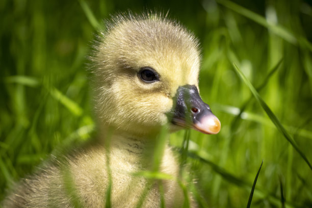
{"type": "MultiPolygon", "coordinates": [[[[15,187],[3,207],[183,207],[176,180],[133,173],[155,171],[160,133],[192,128],[217,134],[220,121],[198,92],[198,40],[162,15],[118,15],[94,43],[96,144],[51,158],[15,187]],[[162,191],[160,191],[160,184],[162,191]],[[143,197],[142,197],[143,196],[143,197]]],[[[168,144],[156,171],[178,178],[168,144]]]]}

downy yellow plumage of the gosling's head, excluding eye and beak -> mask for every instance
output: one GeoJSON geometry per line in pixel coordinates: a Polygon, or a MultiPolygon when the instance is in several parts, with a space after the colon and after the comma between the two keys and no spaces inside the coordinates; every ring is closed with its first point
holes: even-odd
{"type": "Polygon", "coordinates": [[[127,135],[159,131],[177,88],[197,86],[198,42],[179,24],[156,15],[118,16],[108,27],[93,57],[98,115],[127,135]],[[157,70],[161,82],[142,82],[137,74],[145,66],[157,70]]]}

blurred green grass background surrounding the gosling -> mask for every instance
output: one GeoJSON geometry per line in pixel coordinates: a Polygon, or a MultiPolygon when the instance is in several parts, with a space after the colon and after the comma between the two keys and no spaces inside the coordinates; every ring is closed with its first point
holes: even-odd
{"type": "Polygon", "coordinates": [[[110,14],[146,8],[201,42],[200,94],[222,128],[190,134],[199,207],[245,207],[262,160],[251,207],[312,207],[312,4],[286,0],[0,1],[0,200],[54,149],[95,134],[91,41],[110,14]]]}

